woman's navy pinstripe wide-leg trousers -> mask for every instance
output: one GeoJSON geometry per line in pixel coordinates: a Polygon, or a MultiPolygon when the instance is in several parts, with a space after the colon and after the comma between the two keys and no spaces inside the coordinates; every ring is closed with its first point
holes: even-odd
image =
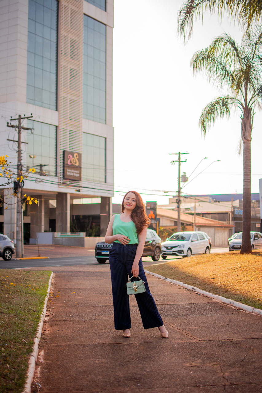
{"type": "MultiPolygon", "coordinates": [[[[129,295],[127,295],[126,283],[128,281],[128,275],[129,277],[132,276],[131,270],[136,251],[137,244],[125,245],[114,242],[109,254],[114,305],[114,328],[116,330],[131,328],[129,295]]],[[[144,329],[162,326],[162,318],[148,287],[148,281],[142,265],[142,258],[140,258],[138,266],[138,275],[145,282],[146,292],[135,295],[135,298],[137,300],[144,329]]]]}

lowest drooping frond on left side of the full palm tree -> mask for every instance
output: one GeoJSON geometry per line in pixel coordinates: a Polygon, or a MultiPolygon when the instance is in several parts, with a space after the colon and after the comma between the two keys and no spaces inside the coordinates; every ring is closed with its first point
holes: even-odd
{"type": "Polygon", "coordinates": [[[203,135],[206,135],[207,128],[214,124],[216,119],[221,119],[224,117],[229,118],[231,108],[234,107],[235,104],[240,105],[241,103],[239,100],[234,97],[230,97],[229,95],[217,97],[207,104],[207,106],[203,109],[199,119],[199,128],[201,129],[203,135]]]}

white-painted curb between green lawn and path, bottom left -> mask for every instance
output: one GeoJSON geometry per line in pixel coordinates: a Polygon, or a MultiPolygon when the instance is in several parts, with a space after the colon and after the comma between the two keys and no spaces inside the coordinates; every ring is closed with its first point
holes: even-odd
{"type": "Polygon", "coordinates": [[[35,373],[35,362],[37,360],[37,355],[38,355],[38,345],[39,345],[39,341],[40,341],[41,334],[42,334],[42,327],[44,325],[44,318],[46,316],[46,305],[47,305],[47,301],[49,298],[49,292],[50,292],[51,281],[52,281],[53,275],[54,275],[54,273],[52,272],[50,275],[49,282],[48,282],[46,298],[44,299],[44,307],[41,312],[40,321],[39,321],[39,324],[37,327],[36,337],[34,338],[33,352],[31,353],[30,358],[28,360],[28,371],[27,371],[27,375],[26,375],[26,383],[24,385],[24,389],[23,389],[22,393],[31,393],[31,384],[33,381],[34,373],[35,373]]]}

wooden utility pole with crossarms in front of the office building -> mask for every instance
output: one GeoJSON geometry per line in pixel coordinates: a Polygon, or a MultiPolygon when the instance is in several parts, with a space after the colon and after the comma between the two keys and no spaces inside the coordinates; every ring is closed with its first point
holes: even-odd
{"type": "MultiPolygon", "coordinates": [[[[28,127],[23,127],[21,125],[21,120],[22,119],[30,119],[33,116],[24,116],[22,118],[21,115],[18,115],[18,118],[16,119],[10,119],[10,121],[15,121],[18,120],[18,125],[14,124],[9,124],[7,123],[7,127],[11,127],[14,129],[18,130],[18,140],[14,141],[17,142],[17,177],[20,179],[22,176],[22,160],[21,160],[21,132],[22,130],[31,130],[31,128],[28,127]]],[[[22,212],[22,182],[18,180],[18,187],[17,187],[17,244],[16,244],[16,250],[17,250],[17,258],[22,258],[22,253],[23,253],[23,212],[22,212]]]]}

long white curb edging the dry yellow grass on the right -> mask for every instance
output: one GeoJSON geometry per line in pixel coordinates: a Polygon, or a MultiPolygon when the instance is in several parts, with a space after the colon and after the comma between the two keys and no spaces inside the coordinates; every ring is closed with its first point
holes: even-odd
{"type": "Polygon", "coordinates": [[[168,283],[179,285],[179,286],[183,286],[184,288],[189,289],[190,291],[197,292],[197,293],[199,293],[201,295],[207,296],[208,298],[221,301],[222,303],[229,304],[230,306],[237,307],[238,309],[242,309],[242,310],[247,311],[247,312],[252,312],[253,314],[262,315],[262,310],[261,309],[255,309],[254,307],[248,306],[248,305],[246,305],[244,303],[239,303],[238,301],[234,301],[232,299],[224,298],[223,296],[213,295],[210,292],[203,291],[202,289],[196,288],[195,286],[191,286],[191,285],[182,283],[181,281],[172,280],[170,278],[163,277],[160,274],[149,272],[148,270],[144,270],[144,271],[147,274],[151,274],[151,275],[153,275],[153,276],[155,276],[157,278],[160,278],[161,280],[167,281],[168,283]]]}

